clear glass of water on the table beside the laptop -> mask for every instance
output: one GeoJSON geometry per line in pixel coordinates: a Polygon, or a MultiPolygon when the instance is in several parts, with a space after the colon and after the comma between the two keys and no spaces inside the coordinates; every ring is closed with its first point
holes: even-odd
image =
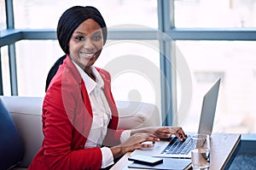
{"type": "Polygon", "coordinates": [[[193,169],[206,169],[210,167],[210,136],[208,134],[195,134],[192,136],[191,161],[193,169]]]}

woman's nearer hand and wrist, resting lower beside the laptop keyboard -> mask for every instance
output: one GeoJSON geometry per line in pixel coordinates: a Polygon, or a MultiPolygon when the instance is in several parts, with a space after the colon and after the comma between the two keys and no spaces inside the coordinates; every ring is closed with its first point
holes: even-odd
{"type": "Polygon", "coordinates": [[[126,152],[136,150],[139,148],[151,148],[154,146],[154,142],[160,141],[159,138],[152,133],[135,133],[131,135],[124,143],[110,148],[113,153],[113,158],[119,158],[124,156],[126,152]],[[143,144],[145,141],[152,141],[152,144],[143,144]]]}

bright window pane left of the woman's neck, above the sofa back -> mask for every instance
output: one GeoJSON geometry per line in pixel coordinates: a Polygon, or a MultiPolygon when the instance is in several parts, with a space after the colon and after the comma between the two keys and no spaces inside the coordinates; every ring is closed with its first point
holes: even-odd
{"type": "Polygon", "coordinates": [[[63,55],[57,41],[16,42],[18,93],[20,96],[44,96],[50,67],[63,55]]]}

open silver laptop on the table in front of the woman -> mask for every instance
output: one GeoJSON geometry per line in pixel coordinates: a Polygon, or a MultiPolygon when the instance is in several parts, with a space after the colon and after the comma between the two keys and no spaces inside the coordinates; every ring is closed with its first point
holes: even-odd
{"type": "MultiPolygon", "coordinates": [[[[218,100],[218,89],[220,85],[220,78],[214,83],[212,88],[204,95],[201,117],[198,127],[198,133],[205,133],[212,135],[212,127],[218,100]]],[[[173,157],[173,158],[191,158],[190,150],[193,149],[191,144],[191,134],[183,142],[179,141],[177,137],[172,139],[161,140],[156,142],[153,148],[134,150],[131,156],[144,155],[156,157],[173,157]],[[173,150],[172,150],[173,149],[173,150]]]]}

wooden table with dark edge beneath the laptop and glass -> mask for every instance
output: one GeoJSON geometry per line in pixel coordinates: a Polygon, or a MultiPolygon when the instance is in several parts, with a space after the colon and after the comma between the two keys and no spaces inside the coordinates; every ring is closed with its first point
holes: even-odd
{"type": "MultiPolygon", "coordinates": [[[[213,133],[211,138],[210,169],[229,169],[232,161],[236,157],[240,145],[240,134],[213,133]]],[[[132,161],[128,161],[128,156],[130,155],[131,152],[125,154],[125,156],[123,156],[118,162],[115,163],[111,170],[135,169],[127,167],[132,163],[132,161]]]]}

